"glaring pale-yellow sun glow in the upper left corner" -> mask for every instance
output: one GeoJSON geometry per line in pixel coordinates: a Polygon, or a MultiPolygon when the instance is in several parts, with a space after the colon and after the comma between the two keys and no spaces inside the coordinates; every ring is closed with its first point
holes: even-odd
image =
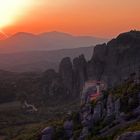
{"type": "Polygon", "coordinates": [[[33,0],[0,0],[0,28],[18,20],[32,3],[33,0]]]}

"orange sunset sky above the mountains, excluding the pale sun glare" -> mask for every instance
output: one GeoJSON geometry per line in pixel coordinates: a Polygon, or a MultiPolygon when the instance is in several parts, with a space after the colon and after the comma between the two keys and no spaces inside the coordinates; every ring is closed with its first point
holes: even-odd
{"type": "Polygon", "coordinates": [[[131,29],[140,30],[140,0],[27,2],[28,6],[22,7],[14,22],[2,28],[8,35],[19,31],[40,33],[57,30],[75,35],[114,37],[131,29]]]}

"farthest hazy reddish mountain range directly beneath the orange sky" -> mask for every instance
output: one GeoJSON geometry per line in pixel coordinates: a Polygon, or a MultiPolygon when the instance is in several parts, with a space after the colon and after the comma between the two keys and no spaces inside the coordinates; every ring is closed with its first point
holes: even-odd
{"type": "Polygon", "coordinates": [[[38,35],[19,32],[0,40],[0,52],[20,52],[35,50],[56,50],[64,48],[78,48],[107,42],[107,39],[91,36],[73,36],[62,32],[46,32],[38,35]]]}

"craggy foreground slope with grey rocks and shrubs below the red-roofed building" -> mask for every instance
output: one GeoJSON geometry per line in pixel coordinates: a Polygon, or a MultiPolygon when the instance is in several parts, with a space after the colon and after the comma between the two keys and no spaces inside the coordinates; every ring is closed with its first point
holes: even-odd
{"type": "Polygon", "coordinates": [[[139,140],[139,121],[140,82],[129,77],[79,111],[67,113],[61,126],[44,129],[42,140],[139,140]]]}

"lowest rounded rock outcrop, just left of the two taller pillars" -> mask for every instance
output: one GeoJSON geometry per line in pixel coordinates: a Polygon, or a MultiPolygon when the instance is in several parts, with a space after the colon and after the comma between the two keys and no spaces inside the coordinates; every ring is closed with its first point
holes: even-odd
{"type": "Polygon", "coordinates": [[[51,100],[61,100],[66,98],[66,87],[63,85],[62,78],[59,73],[50,69],[44,72],[42,76],[42,101],[51,102],[51,100]]]}

